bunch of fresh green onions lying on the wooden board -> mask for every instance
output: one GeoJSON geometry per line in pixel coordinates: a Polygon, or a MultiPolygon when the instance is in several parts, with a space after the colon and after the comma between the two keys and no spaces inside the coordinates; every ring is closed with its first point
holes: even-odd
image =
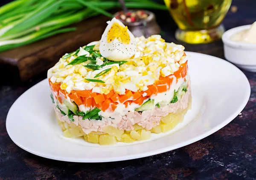
{"type": "MultiPolygon", "coordinates": [[[[153,0],[126,0],[128,8],[162,9],[153,0]]],[[[118,0],[15,0],[0,7],[0,52],[75,31],[64,28],[120,7],[118,0]]]]}

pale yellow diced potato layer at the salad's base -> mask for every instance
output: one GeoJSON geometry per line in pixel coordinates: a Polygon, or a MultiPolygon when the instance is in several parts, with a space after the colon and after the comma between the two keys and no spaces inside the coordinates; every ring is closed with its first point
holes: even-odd
{"type": "Polygon", "coordinates": [[[170,113],[163,117],[160,121],[160,125],[155,126],[150,131],[145,130],[137,124],[134,125],[134,130],[132,131],[123,131],[107,125],[103,128],[103,132],[91,132],[90,134],[85,134],[80,125],[76,126],[73,123],[68,124],[67,122],[61,121],[58,121],[58,125],[61,127],[64,136],[68,138],[83,136],[84,140],[87,142],[99,143],[100,145],[115,145],[117,141],[131,143],[150,139],[151,133],[159,134],[172,130],[178,123],[183,121],[187,110],[190,108],[191,99],[189,100],[188,108],[178,113],[170,113]]]}

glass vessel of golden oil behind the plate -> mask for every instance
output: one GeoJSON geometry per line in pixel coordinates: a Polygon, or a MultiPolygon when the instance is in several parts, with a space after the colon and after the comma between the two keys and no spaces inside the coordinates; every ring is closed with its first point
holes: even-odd
{"type": "Polygon", "coordinates": [[[190,44],[204,44],[221,38],[222,20],[232,0],[164,0],[179,29],[175,37],[190,44]]]}

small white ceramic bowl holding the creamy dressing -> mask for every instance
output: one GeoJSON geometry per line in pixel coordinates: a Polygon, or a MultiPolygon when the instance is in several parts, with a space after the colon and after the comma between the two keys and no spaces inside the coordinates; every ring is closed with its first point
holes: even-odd
{"type": "Polygon", "coordinates": [[[256,43],[232,41],[230,38],[238,32],[249,29],[251,25],[230,29],[222,35],[224,56],[241,69],[256,72],[256,43]]]}

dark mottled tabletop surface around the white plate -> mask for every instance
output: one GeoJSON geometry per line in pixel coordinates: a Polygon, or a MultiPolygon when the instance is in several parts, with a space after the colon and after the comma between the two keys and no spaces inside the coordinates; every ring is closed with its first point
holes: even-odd
{"type": "MultiPolygon", "coordinates": [[[[7,2],[7,1],[6,1],[7,2]]],[[[0,3],[3,3],[1,0],[0,3]]],[[[228,12],[226,29],[256,21],[256,0],[233,0],[238,11],[228,12]]],[[[166,41],[176,29],[168,12],[155,12],[166,41]]],[[[183,44],[187,51],[224,58],[223,44],[183,44]]],[[[248,104],[232,122],[216,133],[186,147],[163,154],[113,163],[66,163],[48,160],[17,147],[9,138],[6,115],[29,87],[46,78],[43,73],[28,82],[0,85],[0,180],[22,179],[256,179],[256,73],[244,72],[250,81],[248,104]]],[[[8,78],[8,75],[6,77],[8,78]]],[[[232,93],[232,90],[230,91],[232,93]]],[[[17,112],[18,113],[18,112],[17,112]]],[[[28,110],[29,113],[29,110],[28,110]]]]}

